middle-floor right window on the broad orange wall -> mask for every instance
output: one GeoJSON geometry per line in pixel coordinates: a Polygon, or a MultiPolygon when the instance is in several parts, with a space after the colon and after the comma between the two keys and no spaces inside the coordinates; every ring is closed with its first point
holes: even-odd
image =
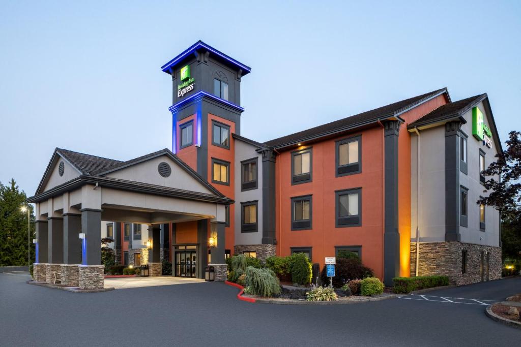
{"type": "Polygon", "coordinates": [[[349,227],[362,225],[361,204],[362,189],[338,190],[336,194],[336,227],[349,227]]]}

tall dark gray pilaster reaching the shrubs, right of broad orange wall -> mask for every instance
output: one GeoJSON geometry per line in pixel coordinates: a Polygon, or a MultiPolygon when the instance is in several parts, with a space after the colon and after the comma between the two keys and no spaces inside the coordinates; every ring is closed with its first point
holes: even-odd
{"type": "Polygon", "coordinates": [[[398,135],[399,121],[384,121],[384,233],[383,282],[392,286],[400,276],[400,234],[398,231],[398,135]]]}

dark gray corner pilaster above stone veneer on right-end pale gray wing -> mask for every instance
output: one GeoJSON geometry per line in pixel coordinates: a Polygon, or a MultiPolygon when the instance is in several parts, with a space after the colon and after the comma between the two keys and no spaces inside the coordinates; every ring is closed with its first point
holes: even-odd
{"type": "Polygon", "coordinates": [[[445,123],[445,241],[460,241],[460,128],[445,123]]]}

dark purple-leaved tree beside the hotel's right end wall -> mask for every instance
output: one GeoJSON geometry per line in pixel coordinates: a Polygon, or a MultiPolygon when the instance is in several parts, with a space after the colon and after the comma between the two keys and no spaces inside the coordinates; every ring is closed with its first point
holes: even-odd
{"type": "Polygon", "coordinates": [[[482,174],[488,197],[478,200],[499,210],[502,216],[501,241],[503,259],[521,259],[521,132],[511,131],[507,148],[499,153],[482,174]],[[494,176],[501,177],[497,180],[494,176]]]}

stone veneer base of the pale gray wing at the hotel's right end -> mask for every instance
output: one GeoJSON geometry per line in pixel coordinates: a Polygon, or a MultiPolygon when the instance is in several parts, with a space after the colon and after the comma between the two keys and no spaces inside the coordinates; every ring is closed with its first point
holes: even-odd
{"type": "MultiPolygon", "coordinates": [[[[475,245],[462,242],[420,242],[419,276],[445,275],[457,286],[481,281],[481,252],[489,252],[489,263],[485,255],[483,268],[485,280],[501,278],[501,247],[475,245]],[[462,250],[467,251],[467,269],[462,273],[462,250]]],[[[411,276],[416,273],[416,242],[411,242],[411,276]]]]}

